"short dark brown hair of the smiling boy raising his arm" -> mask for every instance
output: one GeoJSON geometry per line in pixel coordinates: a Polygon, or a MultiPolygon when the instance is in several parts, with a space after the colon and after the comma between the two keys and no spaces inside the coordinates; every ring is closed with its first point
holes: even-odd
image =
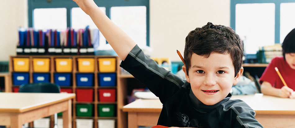
{"type": "Polygon", "coordinates": [[[193,53],[209,57],[210,53],[229,53],[236,76],[243,62],[243,44],[235,31],[223,25],[213,25],[208,22],[202,28],[196,28],[188,33],[185,38],[184,61],[186,73],[191,67],[193,53]]]}

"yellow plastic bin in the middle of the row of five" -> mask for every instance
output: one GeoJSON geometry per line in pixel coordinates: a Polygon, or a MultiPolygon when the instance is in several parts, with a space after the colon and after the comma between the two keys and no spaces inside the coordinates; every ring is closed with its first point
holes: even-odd
{"type": "Polygon", "coordinates": [[[72,59],[71,58],[56,58],[55,68],[57,72],[71,72],[72,59]]]}

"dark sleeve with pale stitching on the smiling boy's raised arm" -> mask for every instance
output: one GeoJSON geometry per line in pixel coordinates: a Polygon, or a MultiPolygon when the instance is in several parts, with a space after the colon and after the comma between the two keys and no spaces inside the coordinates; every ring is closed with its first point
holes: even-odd
{"type": "Polygon", "coordinates": [[[159,67],[155,61],[143,53],[138,45],[129,52],[120,67],[147,86],[163,104],[184,85],[184,80],[159,67]]]}

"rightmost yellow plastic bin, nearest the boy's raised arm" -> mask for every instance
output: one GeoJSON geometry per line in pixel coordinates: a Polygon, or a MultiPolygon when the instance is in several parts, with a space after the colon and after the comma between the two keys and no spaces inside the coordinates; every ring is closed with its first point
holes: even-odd
{"type": "Polygon", "coordinates": [[[98,70],[100,72],[116,71],[116,58],[98,58],[98,70]]]}

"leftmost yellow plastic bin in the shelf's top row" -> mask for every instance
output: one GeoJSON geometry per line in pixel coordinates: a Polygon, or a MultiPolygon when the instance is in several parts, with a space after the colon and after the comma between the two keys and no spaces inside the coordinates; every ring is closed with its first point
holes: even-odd
{"type": "Polygon", "coordinates": [[[13,58],[14,71],[29,71],[29,58],[13,58]]]}

